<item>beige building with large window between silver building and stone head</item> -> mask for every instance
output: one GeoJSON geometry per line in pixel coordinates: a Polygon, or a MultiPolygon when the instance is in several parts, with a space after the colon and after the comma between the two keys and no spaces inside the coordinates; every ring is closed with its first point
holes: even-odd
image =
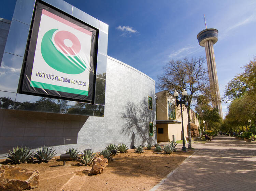
{"type": "MultiPolygon", "coordinates": [[[[156,128],[157,141],[169,142],[173,141],[173,136],[176,140],[182,140],[182,124],[181,124],[181,108],[176,106],[175,98],[166,91],[156,93],[156,128]]],[[[183,111],[184,136],[188,137],[187,124],[188,115],[184,107],[183,111]]],[[[190,110],[191,123],[199,126],[196,118],[196,113],[190,110]]]]}

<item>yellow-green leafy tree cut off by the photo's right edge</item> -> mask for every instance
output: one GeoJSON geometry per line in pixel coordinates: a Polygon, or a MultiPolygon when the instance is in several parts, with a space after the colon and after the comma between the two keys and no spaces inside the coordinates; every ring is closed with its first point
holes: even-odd
{"type": "Polygon", "coordinates": [[[226,86],[224,100],[230,102],[226,121],[232,128],[243,131],[248,128],[248,119],[256,123],[256,56],[226,86]]]}

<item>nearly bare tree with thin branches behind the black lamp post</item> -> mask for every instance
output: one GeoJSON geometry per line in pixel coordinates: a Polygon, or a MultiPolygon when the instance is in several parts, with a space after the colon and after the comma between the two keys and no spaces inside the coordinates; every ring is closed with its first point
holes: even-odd
{"type": "MultiPolygon", "coordinates": [[[[170,60],[163,67],[164,73],[158,76],[158,88],[166,90],[173,95],[174,90],[182,95],[183,89],[187,91],[188,132],[190,132],[190,107],[196,103],[202,94],[208,94],[210,88],[208,71],[204,68],[205,58],[188,58],[170,60]]],[[[192,148],[191,135],[188,134],[188,149],[192,148]]]]}

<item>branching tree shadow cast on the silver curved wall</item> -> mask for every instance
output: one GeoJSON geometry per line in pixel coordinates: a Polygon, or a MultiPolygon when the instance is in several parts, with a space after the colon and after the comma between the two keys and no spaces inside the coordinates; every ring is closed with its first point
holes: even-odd
{"type": "Polygon", "coordinates": [[[148,98],[144,97],[138,104],[128,102],[125,107],[125,112],[122,114],[122,118],[125,121],[122,133],[128,136],[132,134],[131,147],[134,146],[134,143],[137,141],[142,141],[141,144],[147,143],[151,145],[156,141],[155,101],[153,101],[153,110],[151,110],[148,109],[147,100],[148,98]],[[154,126],[154,135],[152,137],[149,134],[149,123],[153,123],[154,126]]]}

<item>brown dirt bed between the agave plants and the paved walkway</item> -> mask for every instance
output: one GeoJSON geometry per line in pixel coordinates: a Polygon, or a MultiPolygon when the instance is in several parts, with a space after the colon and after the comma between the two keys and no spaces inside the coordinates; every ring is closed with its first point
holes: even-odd
{"type": "Polygon", "coordinates": [[[137,154],[130,149],[127,153],[117,154],[99,175],[88,175],[91,167],[79,166],[77,161],[66,161],[66,166],[63,166],[59,157],[54,157],[48,163],[13,166],[40,172],[39,187],[33,191],[150,190],[194,151],[178,150],[171,155],[153,152],[152,148],[137,154]]]}

